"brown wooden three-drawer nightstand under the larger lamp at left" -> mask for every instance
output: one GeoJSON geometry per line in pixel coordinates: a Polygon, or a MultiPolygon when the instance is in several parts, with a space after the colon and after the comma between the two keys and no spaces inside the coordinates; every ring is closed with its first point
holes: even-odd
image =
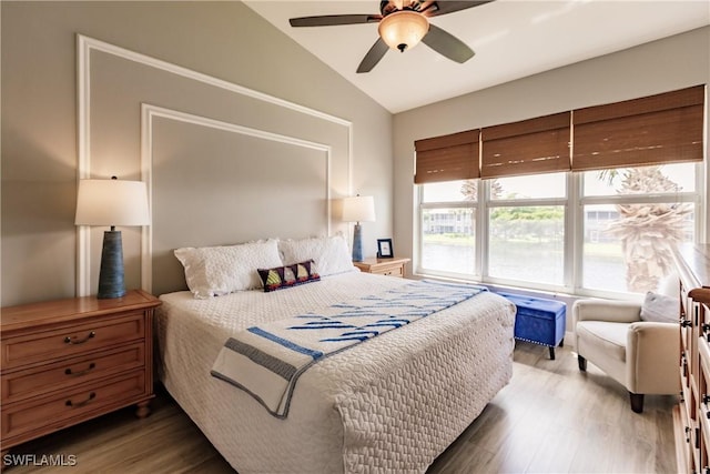
{"type": "MultiPolygon", "coordinates": [[[[26,441],[153,397],[153,310],[143,291],[3,307],[2,454],[26,441]]],[[[1,463],[1,461],[0,461],[1,463]]]]}

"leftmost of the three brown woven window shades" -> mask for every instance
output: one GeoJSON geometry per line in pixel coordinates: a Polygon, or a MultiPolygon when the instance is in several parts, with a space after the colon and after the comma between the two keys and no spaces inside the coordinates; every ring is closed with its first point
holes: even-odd
{"type": "Polygon", "coordinates": [[[479,178],[478,135],[479,130],[469,130],[415,141],[415,184],[479,178]]]}

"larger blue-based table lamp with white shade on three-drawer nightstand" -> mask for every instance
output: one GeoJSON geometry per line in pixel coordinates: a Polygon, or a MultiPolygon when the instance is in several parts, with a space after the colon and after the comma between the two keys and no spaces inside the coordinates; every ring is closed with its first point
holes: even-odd
{"type": "Polygon", "coordinates": [[[77,195],[77,225],[110,225],[103,233],[99,299],[121,297],[123,283],[123,245],[116,225],[149,225],[148,191],[142,181],[80,180],[77,195]]]}

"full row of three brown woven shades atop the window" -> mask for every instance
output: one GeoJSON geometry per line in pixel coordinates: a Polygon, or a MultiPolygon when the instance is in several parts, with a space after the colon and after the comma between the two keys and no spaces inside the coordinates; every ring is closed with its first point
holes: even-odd
{"type": "Polygon", "coordinates": [[[696,85],[417,140],[414,182],[702,161],[704,97],[696,85]]]}

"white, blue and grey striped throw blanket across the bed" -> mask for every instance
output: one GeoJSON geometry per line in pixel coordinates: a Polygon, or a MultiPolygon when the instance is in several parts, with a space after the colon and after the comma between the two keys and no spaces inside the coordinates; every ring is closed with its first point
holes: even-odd
{"type": "Polygon", "coordinates": [[[419,281],[317,313],[252,326],[226,341],[211,373],[246,391],[274,416],[285,418],[298,376],[317,361],[483,291],[487,290],[419,281]]]}

